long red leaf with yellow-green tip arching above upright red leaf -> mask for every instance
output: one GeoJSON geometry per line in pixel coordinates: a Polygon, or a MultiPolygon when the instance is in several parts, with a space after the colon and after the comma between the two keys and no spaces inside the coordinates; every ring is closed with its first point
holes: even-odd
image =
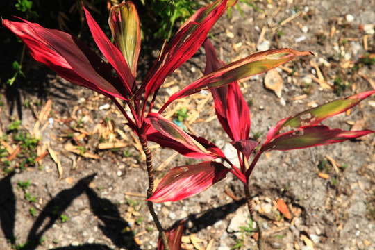
{"type": "Polygon", "coordinates": [[[235,61],[211,74],[203,76],[198,81],[188,85],[183,90],[173,94],[164,107],[172,101],[197,93],[203,89],[217,88],[233,83],[240,79],[249,78],[267,72],[269,69],[288,63],[297,56],[313,55],[310,51],[295,51],[294,49],[272,49],[254,53],[246,58],[235,61]]]}

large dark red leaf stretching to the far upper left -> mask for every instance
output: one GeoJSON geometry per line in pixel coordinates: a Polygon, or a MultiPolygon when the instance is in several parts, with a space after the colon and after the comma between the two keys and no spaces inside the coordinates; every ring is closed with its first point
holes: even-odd
{"type": "Polygon", "coordinates": [[[22,23],[4,19],[3,25],[21,38],[35,60],[67,81],[126,100],[124,86],[110,76],[110,66],[77,38],[26,20],[22,23]]]}

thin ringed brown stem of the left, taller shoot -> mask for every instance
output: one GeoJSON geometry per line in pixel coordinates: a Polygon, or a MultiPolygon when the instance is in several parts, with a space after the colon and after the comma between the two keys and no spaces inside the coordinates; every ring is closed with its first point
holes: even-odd
{"type": "MultiPolygon", "coordinates": [[[[147,198],[151,197],[153,193],[153,167],[152,167],[152,155],[151,151],[149,149],[149,146],[147,144],[147,138],[146,134],[144,133],[144,129],[142,128],[142,131],[139,133],[140,143],[142,145],[142,149],[144,151],[144,154],[146,155],[146,166],[147,166],[147,173],[149,174],[149,189],[147,190],[147,198]]],[[[155,222],[156,228],[158,228],[160,238],[163,241],[164,249],[169,250],[169,244],[167,237],[165,235],[163,226],[160,224],[160,221],[158,219],[158,215],[156,215],[155,210],[153,209],[153,203],[152,201],[147,201],[147,206],[149,207],[149,211],[151,213],[151,216],[153,218],[153,222],[155,222]]]]}

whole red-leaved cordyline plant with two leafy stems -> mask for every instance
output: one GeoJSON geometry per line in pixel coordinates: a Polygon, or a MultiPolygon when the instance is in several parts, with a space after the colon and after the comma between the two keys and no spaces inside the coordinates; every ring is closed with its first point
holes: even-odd
{"type": "Polygon", "coordinates": [[[141,43],[140,20],[131,1],[124,1],[119,6],[110,9],[109,25],[115,45],[101,31],[90,12],[83,8],[94,41],[108,63],[72,35],[43,28],[39,24],[26,20],[22,22],[3,20],[3,25],[21,38],[35,60],[47,65],[67,81],[90,88],[110,98],[126,117],[127,125],[138,135],[146,154],[149,177],[147,204],[160,232],[159,249],[169,249],[169,247],[179,249],[178,244],[181,244],[183,226],[180,225],[175,231],[168,232],[166,235],[153,210],[153,202],[178,201],[191,197],[224,178],[228,172],[232,172],[245,185],[245,194],[250,209],[249,176],[260,154],[264,151],[301,149],[341,142],[372,133],[372,131],[331,130],[326,126],[317,125],[322,119],[337,115],[372,94],[372,92],[365,92],[282,120],[271,129],[265,144],[249,165],[249,156],[258,143],[249,140],[249,108],[236,81],[267,72],[296,56],[312,54],[309,51],[294,51],[293,49],[263,51],[225,65],[217,60],[212,45],[206,42],[205,76],[173,94],[158,113],[152,113],[158,90],[167,76],[194,55],[205,42],[213,24],[228,7],[235,3],[236,0],[217,0],[199,9],[166,44],[165,49],[141,83],[136,81],[141,43]],[[210,89],[213,93],[217,117],[224,131],[233,140],[233,146],[238,149],[240,168],[235,167],[215,144],[185,133],[161,115],[172,101],[203,89],[210,89]],[[126,103],[131,115],[126,113],[118,99],[126,103]],[[310,117],[301,119],[302,115],[308,114],[310,117]],[[281,129],[286,126],[298,129],[280,134],[281,129]],[[173,148],[184,156],[204,158],[206,161],[196,165],[175,167],[163,178],[156,192],[153,193],[153,165],[148,141],[173,148]],[[215,161],[216,159],[222,159],[230,168],[215,161]]]}

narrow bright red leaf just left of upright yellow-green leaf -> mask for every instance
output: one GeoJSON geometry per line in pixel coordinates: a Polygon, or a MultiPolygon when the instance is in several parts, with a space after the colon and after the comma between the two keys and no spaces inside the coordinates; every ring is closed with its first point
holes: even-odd
{"type": "Polygon", "coordinates": [[[97,43],[101,53],[103,56],[106,57],[108,62],[115,68],[117,74],[122,79],[122,83],[124,83],[124,87],[128,91],[129,94],[132,94],[132,90],[135,87],[135,78],[131,73],[131,69],[129,69],[128,63],[124,56],[122,55],[121,51],[113,45],[107,36],[103,33],[97,22],[92,18],[90,12],[83,7],[85,10],[86,19],[88,22],[88,26],[92,33],[92,37],[94,38],[95,42],[97,43]]]}

